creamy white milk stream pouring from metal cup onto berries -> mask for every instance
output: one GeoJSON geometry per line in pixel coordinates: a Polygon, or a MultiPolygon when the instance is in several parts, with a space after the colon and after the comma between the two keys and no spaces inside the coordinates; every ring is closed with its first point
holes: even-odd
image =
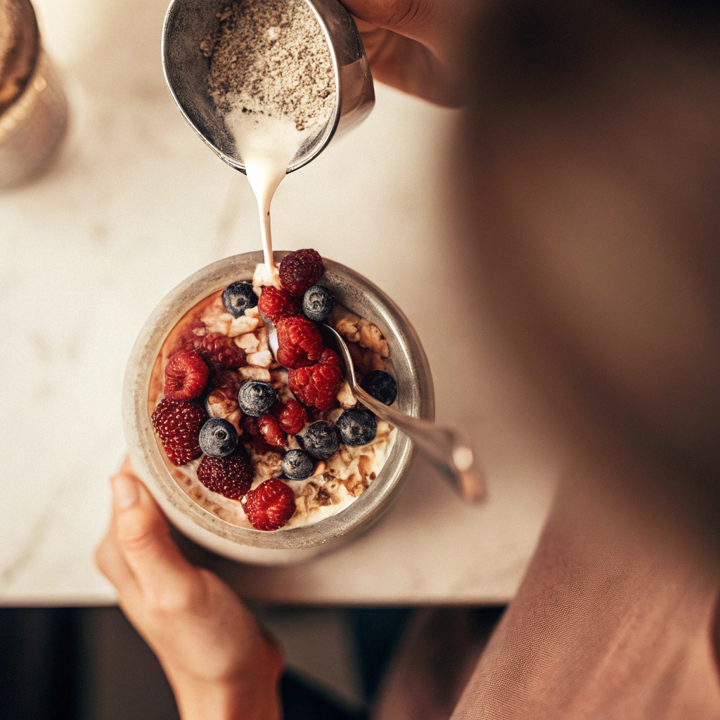
{"type": "Polygon", "coordinates": [[[266,284],[280,287],[273,261],[270,205],[287,166],[317,128],[299,132],[292,120],[266,117],[236,109],[225,116],[225,125],[235,139],[235,147],[243,159],[248,180],[258,202],[260,230],[265,257],[266,284]]]}

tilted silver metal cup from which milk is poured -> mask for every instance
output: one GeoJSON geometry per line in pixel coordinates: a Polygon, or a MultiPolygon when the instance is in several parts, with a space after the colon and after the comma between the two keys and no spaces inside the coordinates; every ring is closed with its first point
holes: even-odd
{"type": "MultiPolygon", "coordinates": [[[[336,134],[359,125],[375,104],[375,90],[365,49],[351,14],[338,0],[305,0],[328,41],[335,70],[336,100],[324,127],[292,159],[292,172],[316,158],[336,134]]],[[[217,13],[228,0],[173,0],[163,25],[163,73],[184,115],[204,142],[228,165],[245,172],[235,141],[207,91],[210,60],[200,43],[217,28],[217,13]]]]}

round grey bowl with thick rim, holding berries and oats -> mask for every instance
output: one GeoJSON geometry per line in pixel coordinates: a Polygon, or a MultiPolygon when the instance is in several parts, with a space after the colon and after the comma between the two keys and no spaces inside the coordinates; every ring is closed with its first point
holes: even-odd
{"type": "MultiPolygon", "coordinates": [[[[287,253],[275,253],[279,261],[287,253]]],[[[217,518],[194,503],[163,462],[148,413],[150,375],[161,346],[176,323],[204,297],[237,280],[249,280],[263,254],[243,253],[205,267],[168,294],[150,315],[130,354],[123,388],[122,419],[132,464],[168,518],[207,549],[243,562],[286,564],[312,557],[368,528],[382,516],[415,454],[409,438],[397,433],[378,477],[354,503],[312,525],[264,532],[217,518]]],[[[435,395],[420,340],[402,310],[372,282],[348,267],[325,260],[323,284],[338,302],[375,323],[390,346],[397,378],[397,409],[432,420],[435,395]]]]}

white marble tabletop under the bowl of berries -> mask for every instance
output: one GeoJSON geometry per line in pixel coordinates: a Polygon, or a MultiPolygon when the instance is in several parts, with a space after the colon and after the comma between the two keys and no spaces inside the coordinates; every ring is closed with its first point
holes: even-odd
{"type": "MultiPolygon", "coordinates": [[[[0,603],[114,600],[91,552],[120,462],[120,392],[140,326],[181,279],[259,248],[246,179],[197,139],[160,66],[166,0],[37,0],[66,71],[73,132],[32,186],[0,197],[0,603]]],[[[379,284],[410,316],[438,418],[485,456],[490,500],[464,505],[419,463],[393,510],[334,554],[285,570],[228,567],[256,600],[490,603],[516,590],[549,505],[541,415],[454,286],[443,177],[454,114],[379,89],[372,117],[288,177],[279,249],[312,246],[379,284]],[[453,317],[469,333],[448,338],[453,317]],[[469,378],[469,379],[468,379],[469,378]]]]}

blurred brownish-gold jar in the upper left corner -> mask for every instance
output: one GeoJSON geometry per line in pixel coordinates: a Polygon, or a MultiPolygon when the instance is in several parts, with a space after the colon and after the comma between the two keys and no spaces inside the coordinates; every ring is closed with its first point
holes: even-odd
{"type": "Polygon", "coordinates": [[[30,0],[0,0],[0,189],[40,174],[67,125],[66,96],[30,0]]]}

